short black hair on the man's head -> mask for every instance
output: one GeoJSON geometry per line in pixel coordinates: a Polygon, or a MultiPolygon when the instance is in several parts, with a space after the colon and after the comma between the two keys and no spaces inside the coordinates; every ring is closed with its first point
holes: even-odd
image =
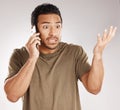
{"type": "Polygon", "coordinates": [[[61,19],[61,23],[62,23],[62,17],[61,17],[59,8],[50,3],[43,3],[41,5],[38,5],[31,14],[31,25],[32,26],[35,25],[37,28],[38,16],[41,14],[57,14],[59,15],[61,19]]]}

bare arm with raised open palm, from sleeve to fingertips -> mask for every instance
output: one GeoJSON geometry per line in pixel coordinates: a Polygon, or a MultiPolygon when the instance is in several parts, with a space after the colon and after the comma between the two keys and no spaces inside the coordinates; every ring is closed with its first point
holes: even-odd
{"type": "Polygon", "coordinates": [[[110,27],[107,31],[105,30],[103,36],[98,34],[97,44],[93,51],[93,60],[91,69],[88,73],[84,74],[80,79],[90,93],[97,94],[101,90],[103,77],[104,77],[104,66],[102,60],[102,53],[106,45],[115,36],[116,27],[110,27]]]}

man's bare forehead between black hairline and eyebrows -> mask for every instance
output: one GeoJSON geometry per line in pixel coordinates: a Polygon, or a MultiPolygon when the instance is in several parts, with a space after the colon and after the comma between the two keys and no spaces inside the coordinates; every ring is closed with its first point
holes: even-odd
{"type": "Polygon", "coordinates": [[[41,14],[38,16],[38,23],[61,23],[61,19],[57,14],[41,14]]]}

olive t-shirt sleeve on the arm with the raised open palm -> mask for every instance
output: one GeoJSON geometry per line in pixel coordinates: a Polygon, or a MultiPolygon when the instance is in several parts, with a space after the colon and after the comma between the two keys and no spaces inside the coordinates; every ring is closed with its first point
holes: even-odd
{"type": "Polygon", "coordinates": [[[80,79],[80,77],[88,72],[90,70],[90,64],[88,62],[88,56],[83,50],[83,48],[80,46],[77,49],[77,55],[76,55],[76,74],[77,78],[80,79]]]}

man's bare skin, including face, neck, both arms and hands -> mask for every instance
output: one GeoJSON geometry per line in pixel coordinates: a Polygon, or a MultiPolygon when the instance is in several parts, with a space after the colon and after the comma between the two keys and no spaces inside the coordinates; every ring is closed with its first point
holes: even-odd
{"type": "MultiPolygon", "coordinates": [[[[39,54],[41,52],[44,54],[54,53],[61,39],[62,23],[58,15],[40,15],[37,26],[39,33],[34,33],[25,46],[29,53],[28,60],[15,76],[6,80],[4,85],[7,98],[12,102],[16,102],[27,91],[39,54]]],[[[102,36],[98,35],[93,51],[91,69],[80,78],[90,93],[97,94],[101,89],[104,76],[102,53],[114,37],[115,32],[116,27],[111,26],[108,31],[104,31],[102,36]]]]}

